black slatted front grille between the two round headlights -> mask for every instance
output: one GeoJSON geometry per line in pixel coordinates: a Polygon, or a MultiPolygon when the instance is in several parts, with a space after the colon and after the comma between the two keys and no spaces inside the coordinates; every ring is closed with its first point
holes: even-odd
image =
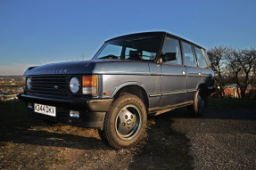
{"type": "Polygon", "coordinates": [[[69,77],[67,76],[32,76],[31,89],[28,93],[67,96],[69,93],[69,77]]]}

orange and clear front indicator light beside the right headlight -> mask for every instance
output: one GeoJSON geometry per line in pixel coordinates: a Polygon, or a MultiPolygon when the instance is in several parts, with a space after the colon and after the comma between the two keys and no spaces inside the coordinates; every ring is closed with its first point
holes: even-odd
{"type": "Polygon", "coordinates": [[[97,75],[83,77],[83,94],[98,95],[98,77],[97,75]]]}

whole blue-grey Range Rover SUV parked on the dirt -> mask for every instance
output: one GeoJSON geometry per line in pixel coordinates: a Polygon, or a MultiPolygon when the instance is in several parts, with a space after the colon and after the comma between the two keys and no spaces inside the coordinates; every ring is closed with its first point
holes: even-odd
{"type": "Polygon", "coordinates": [[[90,61],[30,67],[24,77],[18,97],[29,115],[97,128],[116,149],[142,139],[148,114],[187,107],[201,116],[214,90],[205,50],[166,32],[115,37],[90,61]]]}

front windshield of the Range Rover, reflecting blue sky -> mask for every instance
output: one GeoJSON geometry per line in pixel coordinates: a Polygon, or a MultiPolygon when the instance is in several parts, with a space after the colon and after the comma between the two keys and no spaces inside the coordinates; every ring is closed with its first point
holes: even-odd
{"type": "Polygon", "coordinates": [[[93,60],[153,61],[161,46],[161,36],[125,36],[106,42],[93,60]]]}

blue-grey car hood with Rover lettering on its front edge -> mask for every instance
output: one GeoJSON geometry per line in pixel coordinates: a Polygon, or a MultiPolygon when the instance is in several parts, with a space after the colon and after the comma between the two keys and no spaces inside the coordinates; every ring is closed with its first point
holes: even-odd
{"type": "Polygon", "coordinates": [[[70,61],[30,67],[24,76],[67,74],[149,74],[149,67],[145,61],[70,61]]]}

